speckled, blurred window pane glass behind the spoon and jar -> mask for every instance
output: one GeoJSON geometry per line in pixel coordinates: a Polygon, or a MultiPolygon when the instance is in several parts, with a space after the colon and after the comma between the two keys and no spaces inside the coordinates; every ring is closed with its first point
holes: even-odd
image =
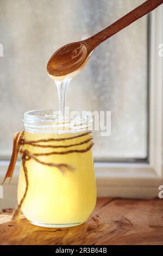
{"type": "MultiPolygon", "coordinates": [[[[1,0],[0,155],[11,154],[23,113],[58,107],[46,63],[61,45],[93,35],[143,0],[1,0]]],[[[95,133],[96,159],[147,157],[147,27],[136,21],[103,42],[70,83],[71,109],[111,111],[111,135],[95,133]]]]}

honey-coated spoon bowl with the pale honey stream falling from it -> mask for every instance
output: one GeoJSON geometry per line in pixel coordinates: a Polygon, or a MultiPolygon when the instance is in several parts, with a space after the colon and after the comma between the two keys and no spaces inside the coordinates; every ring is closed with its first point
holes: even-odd
{"type": "Polygon", "coordinates": [[[68,44],[61,47],[49,59],[47,65],[48,75],[57,85],[59,98],[59,121],[64,121],[67,87],[73,77],[77,76],[84,68],[90,56],[87,56],[87,48],[77,42],[75,47],[68,44]]]}

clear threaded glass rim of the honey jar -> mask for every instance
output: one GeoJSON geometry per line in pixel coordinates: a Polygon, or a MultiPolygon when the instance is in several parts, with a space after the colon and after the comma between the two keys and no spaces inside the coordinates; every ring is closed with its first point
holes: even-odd
{"type": "Polygon", "coordinates": [[[39,109],[24,113],[24,129],[30,133],[74,133],[92,130],[92,112],[66,108],[64,118],[58,109],[39,109]]]}

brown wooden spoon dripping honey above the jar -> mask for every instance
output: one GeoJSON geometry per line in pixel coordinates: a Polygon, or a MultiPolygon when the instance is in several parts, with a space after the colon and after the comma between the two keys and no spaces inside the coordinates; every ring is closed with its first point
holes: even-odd
{"type": "Polygon", "coordinates": [[[93,49],[162,3],[163,0],[148,0],[91,38],[62,46],[49,59],[48,74],[54,80],[64,80],[67,77],[76,76],[86,65],[93,49]]]}

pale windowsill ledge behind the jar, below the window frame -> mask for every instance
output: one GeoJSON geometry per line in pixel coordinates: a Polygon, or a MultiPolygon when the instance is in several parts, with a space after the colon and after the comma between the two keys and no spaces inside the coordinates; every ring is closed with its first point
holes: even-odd
{"type": "MultiPolygon", "coordinates": [[[[0,181],[3,180],[9,161],[0,162],[0,181]]],[[[17,204],[17,181],[20,162],[16,163],[10,184],[3,185],[4,199],[0,199],[0,211],[3,208],[15,208],[17,204]]],[[[98,197],[153,198],[157,197],[158,187],[163,180],[149,164],[139,163],[95,163],[98,197]]]]}

